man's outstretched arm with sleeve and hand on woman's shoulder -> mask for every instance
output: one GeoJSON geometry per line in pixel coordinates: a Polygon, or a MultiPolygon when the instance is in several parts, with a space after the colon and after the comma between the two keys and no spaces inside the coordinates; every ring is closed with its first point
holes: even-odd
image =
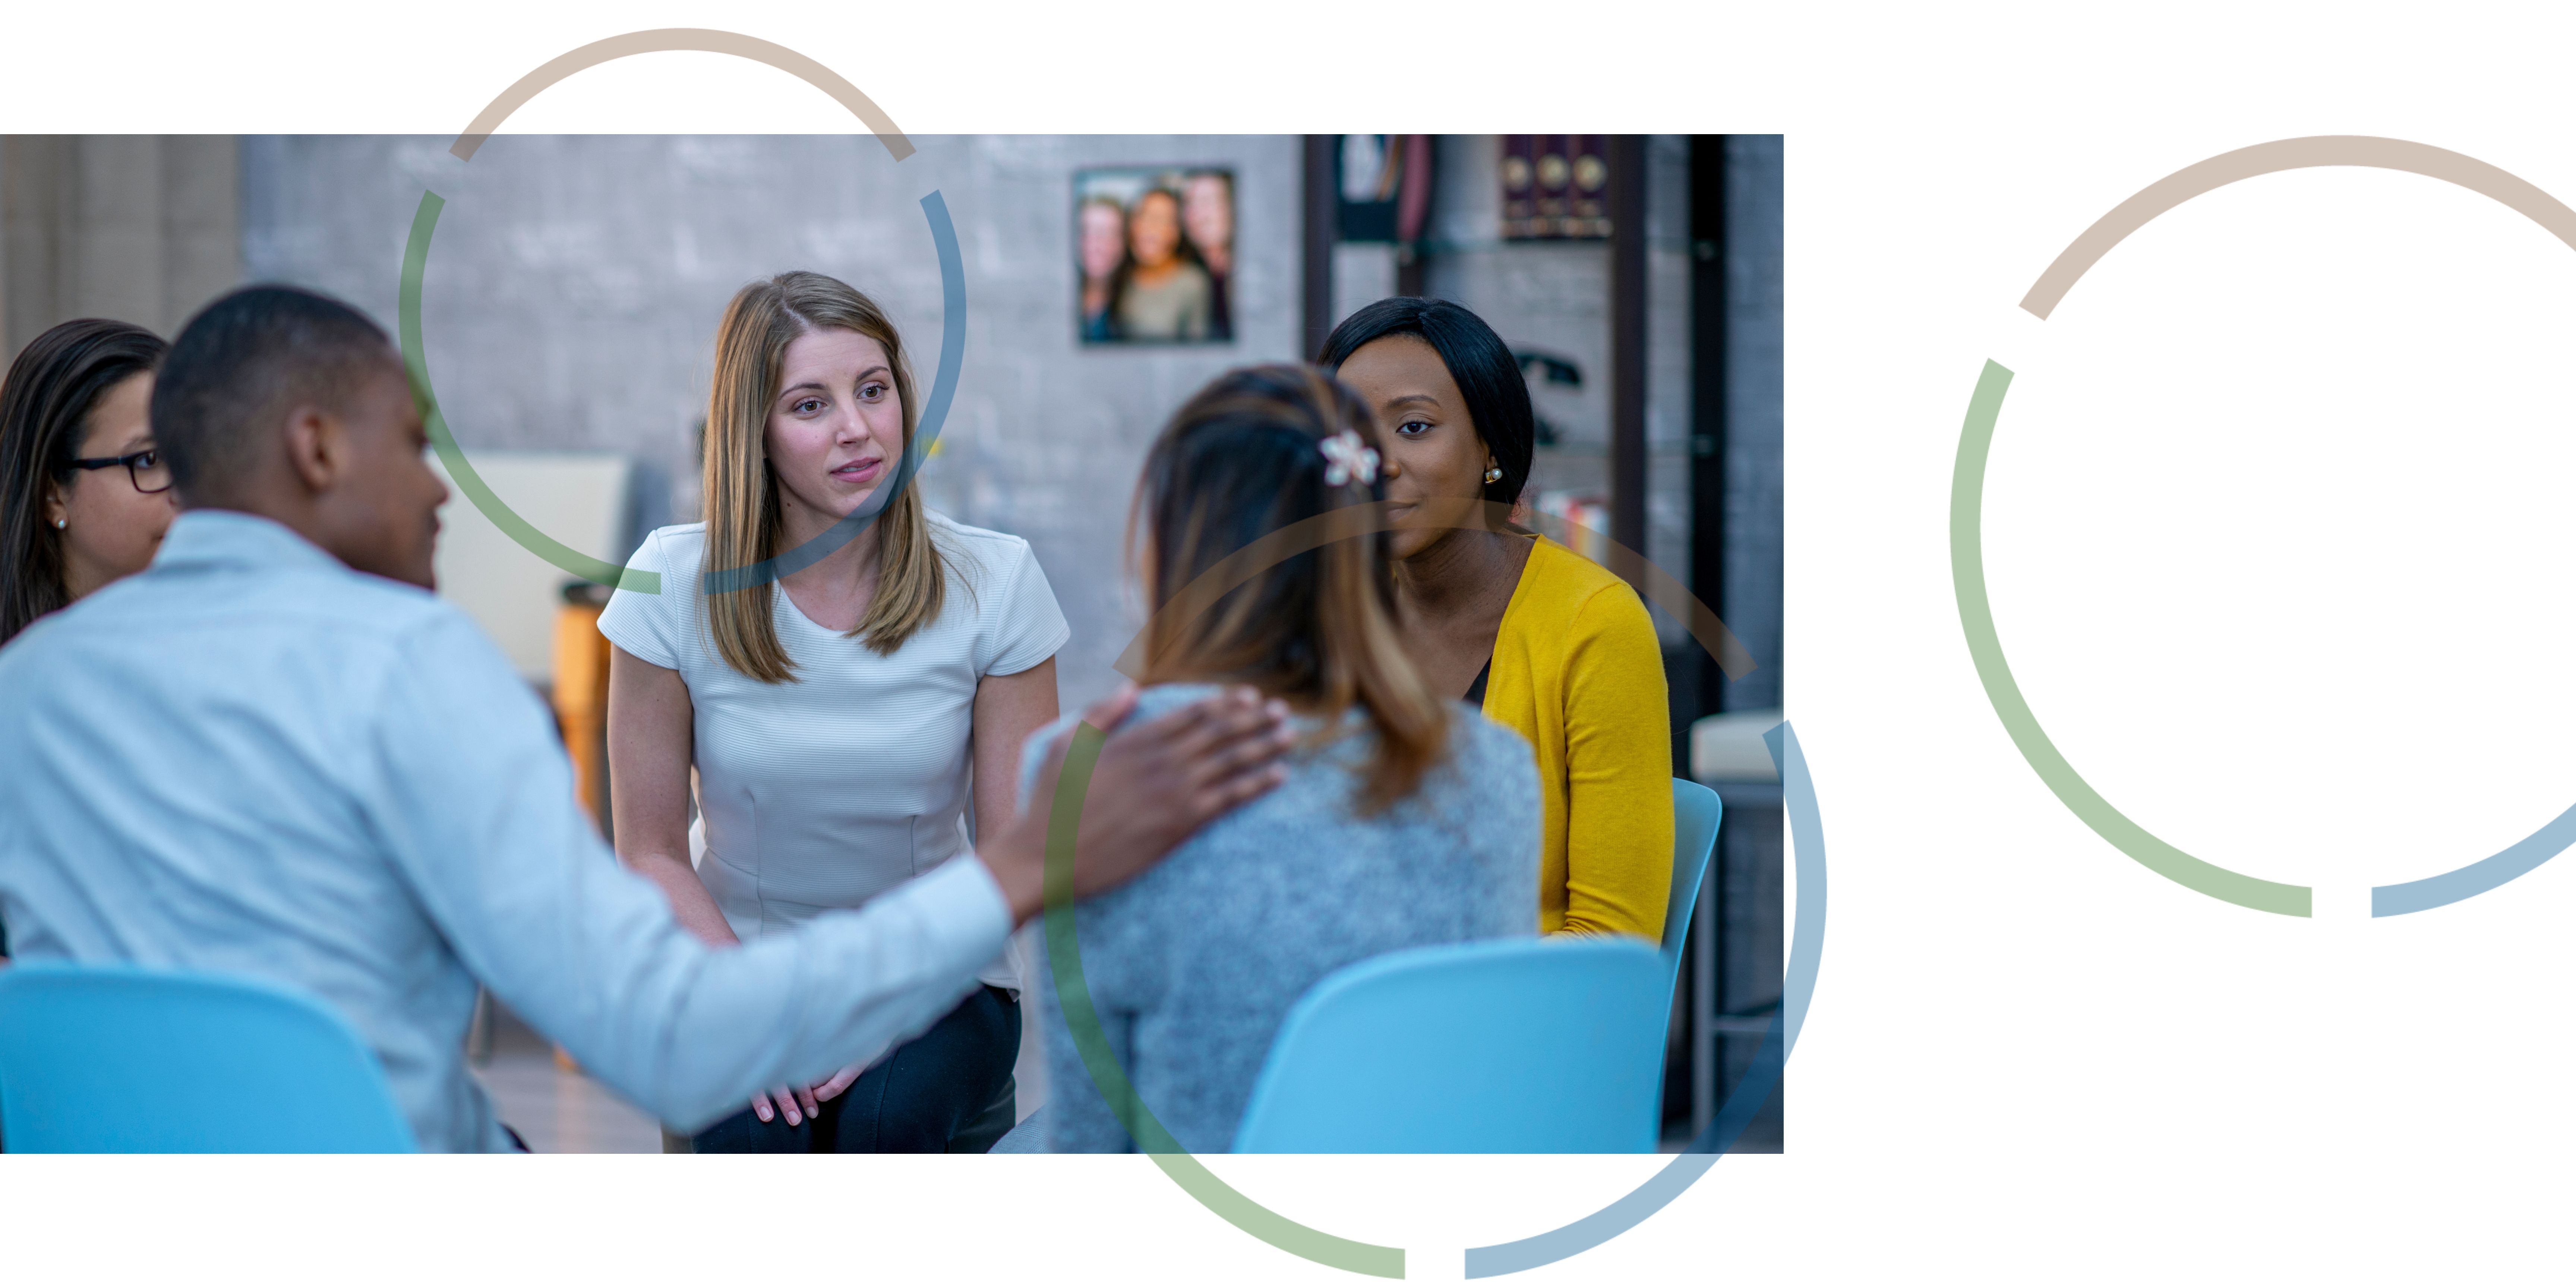
{"type": "MultiPolygon", "coordinates": [[[[1131,693],[1087,719],[1118,726],[1131,693]]],[[[1092,773],[1077,889],[1159,860],[1275,783],[1283,711],[1244,693],[1115,729],[1092,773]]],[[[1043,783],[1066,747],[1048,755],[1043,783]]],[[[544,711],[456,621],[412,641],[384,701],[371,814],[464,966],[595,1077],[672,1126],[804,1084],[925,1030],[1041,904],[1043,811],[863,909],[708,948],[582,817],[544,711]]],[[[1043,799],[1043,796],[1041,796],[1043,799]]]]}

